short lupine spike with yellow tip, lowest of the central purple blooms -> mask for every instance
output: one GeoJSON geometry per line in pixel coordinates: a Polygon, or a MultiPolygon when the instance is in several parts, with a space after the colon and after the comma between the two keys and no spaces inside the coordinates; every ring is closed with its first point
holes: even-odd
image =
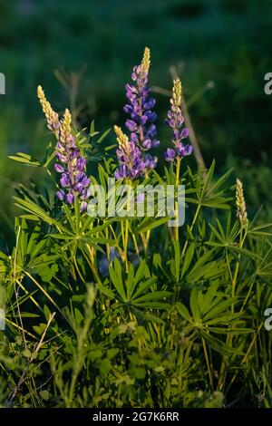
{"type": "Polygon", "coordinates": [[[121,131],[120,127],[114,126],[114,131],[119,145],[116,153],[120,164],[119,168],[116,169],[114,173],[115,178],[138,178],[145,169],[144,161],[141,158],[141,150],[136,147],[133,141],[129,140],[128,136],[121,131]]]}

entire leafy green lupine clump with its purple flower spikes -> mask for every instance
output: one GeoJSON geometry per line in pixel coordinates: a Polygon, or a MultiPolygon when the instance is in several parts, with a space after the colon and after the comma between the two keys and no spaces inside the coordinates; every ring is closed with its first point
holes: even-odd
{"type": "Polygon", "coordinates": [[[52,184],[20,186],[15,244],[0,253],[3,407],[272,407],[271,224],[248,218],[234,170],[189,168],[179,79],[155,155],[150,64],[145,49],[126,86],[127,132],[100,135],[92,122],[87,134],[38,87],[44,159],[11,158],[52,184]],[[95,186],[110,205],[110,179],[129,185],[125,203],[116,196],[127,212],[145,206],[139,185],[185,185],[185,224],[92,215],[95,186]]]}

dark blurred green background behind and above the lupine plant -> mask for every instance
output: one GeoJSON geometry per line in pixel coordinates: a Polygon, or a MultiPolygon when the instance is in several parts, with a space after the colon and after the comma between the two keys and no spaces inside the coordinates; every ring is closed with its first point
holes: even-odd
{"type": "MultiPolygon", "coordinates": [[[[16,182],[44,179],[7,159],[16,151],[43,156],[36,86],[55,110],[70,106],[82,125],[94,118],[105,131],[123,120],[124,84],[145,45],[151,85],[170,89],[170,65],[180,70],[206,163],[216,158],[218,173],[234,166],[250,215],[264,205],[261,218],[272,218],[272,96],[264,93],[271,23],[271,0],[0,0],[0,247],[12,241],[16,182]]],[[[168,99],[156,97],[163,148],[168,99]]]]}

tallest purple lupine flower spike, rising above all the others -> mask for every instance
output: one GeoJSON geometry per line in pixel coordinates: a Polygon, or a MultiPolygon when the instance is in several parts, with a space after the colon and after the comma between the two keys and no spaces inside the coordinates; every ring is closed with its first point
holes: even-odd
{"type": "Polygon", "coordinates": [[[151,156],[148,151],[160,145],[154,124],[157,114],[152,111],[156,102],[151,97],[151,89],[148,87],[150,64],[151,52],[146,47],[141,64],[134,66],[131,74],[131,79],[135,83],[126,85],[129,103],[124,106],[124,111],[130,115],[130,119],[126,121],[126,127],[131,133],[130,140],[141,150],[144,169],[156,167],[157,158],[151,156]]]}

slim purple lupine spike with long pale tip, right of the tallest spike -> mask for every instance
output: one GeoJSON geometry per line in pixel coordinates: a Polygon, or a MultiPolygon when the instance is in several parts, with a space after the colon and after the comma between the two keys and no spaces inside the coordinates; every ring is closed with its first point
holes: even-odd
{"type": "Polygon", "coordinates": [[[173,161],[177,158],[182,158],[190,155],[193,151],[193,147],[190,144],[184,145],[185,140],[189,135],[189,129],[183,127],[184,117],[181,111],[181,82],[179,79],[174,80],[172,97],[170,99],[170,111],[168,111],[166,123],[172,130],[172,141],[174,149],[168,148],[165,152],[164,157],[167,161],[173,161]]]}

